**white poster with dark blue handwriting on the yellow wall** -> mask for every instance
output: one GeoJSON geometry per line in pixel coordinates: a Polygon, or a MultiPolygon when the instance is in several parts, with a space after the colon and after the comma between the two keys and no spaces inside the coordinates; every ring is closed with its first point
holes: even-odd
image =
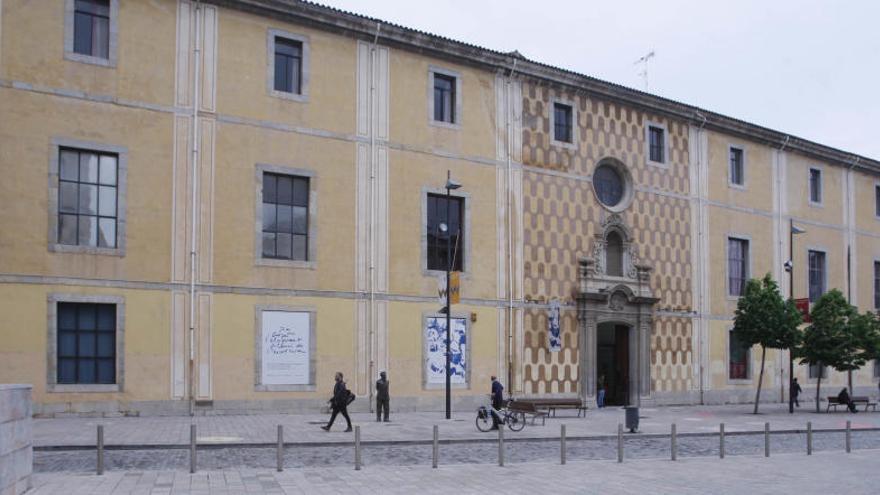
{"type": "Polygon", "coordinates": [[[309,384],[309,313],[263,311],[263,385],[309,384]]]}

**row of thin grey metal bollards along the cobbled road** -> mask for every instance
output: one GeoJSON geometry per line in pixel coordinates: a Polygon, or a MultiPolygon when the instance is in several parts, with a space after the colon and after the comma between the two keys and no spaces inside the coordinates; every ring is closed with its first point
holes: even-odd
{"type": "MultiPolygon", "coordinates": [[[[97,425],[97,474],[104,474],[104,425],[97,425]]],[[[813,455],[813,423],[807,422],[807,455],[813,455]]],[[[846,453],[852,452],[852,422],[846,422],[846,453]]],[[[678,432],[675,423],[672,423],[669,432],[669,450],[670,458],[675,461],[678,458],[678,432]]],[[[724,423],[718,425],[718,456],[724,459],[725,455],[725,430],[724,423]]],[[[437,425],[433,428],[433,440],[431,442],[431,467],[437,468],[440,457],[440,429],[437,425]]],[[[617,425],[617,462],[623,462],[624,437],[623,424],[617,425]]],[[[498,465],[504,466],[504,429],[498,429],[498,465]]],[[[770,423],[764,423],[764,457],[770,457],[770,423]]],[[[276,442],[276,469],[280,472],[284,470],[284,427],[278,425],[277,442],[276,442]]],[[[566,463],[566,428],[565,425],[559,426],[559,463],[566,463]]],[[[197,467],[196,459],[196,425],[189,425],[189,472],[195,473],[197,467]]],[[[363,467],[361,457],[361,427],[354,427],[354,468],[360,471],[363,467]]]]}

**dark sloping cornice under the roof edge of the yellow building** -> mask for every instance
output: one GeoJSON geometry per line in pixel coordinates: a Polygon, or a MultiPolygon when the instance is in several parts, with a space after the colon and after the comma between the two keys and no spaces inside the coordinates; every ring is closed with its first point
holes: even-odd
{"type": "Polygon", "coordinates": [[[508,74],[513,72],[519,77],[528,77],[545,84],[568,87],[601,99],[685,121],[697,127],[801,153],[825,163],[852,167],[875,175],[880,174],[880,161],[878,160],[750,124],[675,100],[528,60],[516,52],[498,52],[380,19],[301,0],[205,0],[204,3],[306,24],[318,29],[340,32],[358,39],[369,41],[378,39],[384,45],[425,53],[485,70],[508,74]]]}

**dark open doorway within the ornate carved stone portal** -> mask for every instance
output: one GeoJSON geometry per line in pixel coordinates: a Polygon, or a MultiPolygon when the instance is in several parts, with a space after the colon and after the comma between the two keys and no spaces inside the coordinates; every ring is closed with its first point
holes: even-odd
{"type": "Polygon", "coordinates": [[[629,326],[599,324],[596,344],[596,377],[605,384],[605,405],[628,405],[629,326]]]}

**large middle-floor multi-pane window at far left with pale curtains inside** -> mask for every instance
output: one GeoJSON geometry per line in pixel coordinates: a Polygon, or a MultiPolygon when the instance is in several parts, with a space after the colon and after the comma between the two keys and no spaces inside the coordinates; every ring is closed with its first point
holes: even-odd
{"type": "Polygon", "coordinates": [[[116,247],[118,156],[61,148],[58,243],[116,247]]]}

